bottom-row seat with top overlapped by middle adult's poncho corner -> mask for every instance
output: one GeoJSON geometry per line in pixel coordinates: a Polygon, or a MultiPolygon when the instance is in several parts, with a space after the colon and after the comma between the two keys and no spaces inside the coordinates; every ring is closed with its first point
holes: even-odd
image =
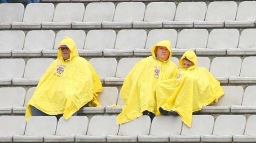
{"type": "Polygon", "coordinates": [[[121,124],[118,135],[107,135],[107,142],[110,143],[137,143],[138,135],[149,135],[150,117],[141,116],[130,122],[121,124]]]}

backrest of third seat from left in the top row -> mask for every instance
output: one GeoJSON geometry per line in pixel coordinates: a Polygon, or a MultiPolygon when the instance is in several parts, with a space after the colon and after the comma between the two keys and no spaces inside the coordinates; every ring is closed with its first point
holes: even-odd
{"type": "Polygon", "coordinates": [[[59,3],[55,8],[53,22],[83,21],[84,10],[83,3],[59,3]]]}

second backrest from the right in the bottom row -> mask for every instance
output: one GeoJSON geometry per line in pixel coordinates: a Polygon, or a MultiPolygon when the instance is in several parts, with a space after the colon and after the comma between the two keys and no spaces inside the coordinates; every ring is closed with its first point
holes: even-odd
{"type": "Polygon", "coordinates": [[[243,115],[220,115],[216,118],[212,135],[243,135],[245,124],[243,115]]]}

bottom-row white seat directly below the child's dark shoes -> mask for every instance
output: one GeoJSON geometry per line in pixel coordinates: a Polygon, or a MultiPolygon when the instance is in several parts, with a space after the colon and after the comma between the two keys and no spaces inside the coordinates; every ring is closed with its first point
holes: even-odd
{"type": "Polygon", "coordinates": [[[157,116],[154,117],[149,135],[139,135],[139,143],[163,143],[169,142],[170,135],[181,134],[182,122],[180,117],[174,116],[157,116]]]}

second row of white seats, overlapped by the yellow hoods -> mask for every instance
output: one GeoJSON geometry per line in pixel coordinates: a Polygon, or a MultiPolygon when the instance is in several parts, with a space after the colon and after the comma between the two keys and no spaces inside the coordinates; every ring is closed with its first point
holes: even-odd
{"type": "Polygon", "coordinates": [[[112,29],[0,31],[0,57],[56,57],[57,45],[72,38],[80,56],[149,56],[161,40],[171,41],[172,55],[194,50],[197,55],[256,55],[256,29],[112,29]]]}

